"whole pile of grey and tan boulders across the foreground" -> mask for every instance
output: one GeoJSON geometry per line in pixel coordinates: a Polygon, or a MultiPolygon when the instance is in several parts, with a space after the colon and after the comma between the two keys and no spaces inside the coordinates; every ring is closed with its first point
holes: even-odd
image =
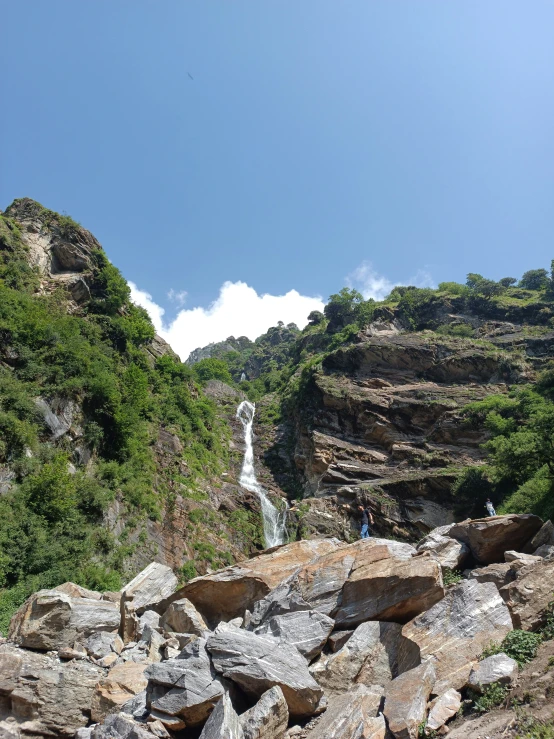
{"type": "Polygon", "coordinates": [[[463,688],[515,679],[506,655],[479,658],[514,626],[540,625],[553,546],[552,524],[497,516],[417,549],[295,542],[181,588],[152,563],[121,593],[40,591],[0,645],[0,736],[444,733],[463,688]],[[445,589],[443,568],[461,566],[472,569],[445,589]]]}

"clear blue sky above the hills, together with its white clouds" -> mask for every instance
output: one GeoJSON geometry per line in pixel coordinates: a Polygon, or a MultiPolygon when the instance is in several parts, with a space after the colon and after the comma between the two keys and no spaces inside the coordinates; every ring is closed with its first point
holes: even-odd
{"type": "Polygon", "coordinates": [[[26,0],[2,25],[0,207],[93,231],[185,311],[182,354],[348,280],[554,257],[550,1],[26,0]]]}

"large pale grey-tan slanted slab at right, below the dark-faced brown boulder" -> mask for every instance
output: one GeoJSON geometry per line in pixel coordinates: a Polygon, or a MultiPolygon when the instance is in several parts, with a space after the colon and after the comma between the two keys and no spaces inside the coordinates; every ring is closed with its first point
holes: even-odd
{"type": "Polygon", "coordinates": [[[462,580],[439,603],[404,626],[400,672],[433,658],[437,681],[433,693],[464,687],[474,663],[491,641],[512,630],[508,607],[492,583],[462,580]]]}

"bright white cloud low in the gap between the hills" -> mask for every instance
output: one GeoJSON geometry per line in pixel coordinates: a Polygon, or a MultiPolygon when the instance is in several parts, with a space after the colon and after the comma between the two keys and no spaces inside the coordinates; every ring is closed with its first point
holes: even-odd
{"type": "Polygon", "coordinates": [[[309,313],[323,310],[324,306],[320,297],[300,295],[296,290],[285,295],[259,295],[245,282],[225,282],[208,308],[181,310],[171,323],[164,325],[164,309],[134,283],[129,286],[132,300],[148,311],[156,331],[183,360],[193,349],[228,336],[256,339],[278,321],[303,328],[309,313]]]}

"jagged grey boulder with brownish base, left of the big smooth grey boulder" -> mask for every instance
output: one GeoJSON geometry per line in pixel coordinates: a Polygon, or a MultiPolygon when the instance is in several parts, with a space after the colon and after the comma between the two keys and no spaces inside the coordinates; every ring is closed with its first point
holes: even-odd
{"type": "Polygon", "coordinates": [[[147,707],[168,728],[202,725],[225,692],[205,639],[188,644],[176,659],[150,665],[144,674],[147,707]]]}

